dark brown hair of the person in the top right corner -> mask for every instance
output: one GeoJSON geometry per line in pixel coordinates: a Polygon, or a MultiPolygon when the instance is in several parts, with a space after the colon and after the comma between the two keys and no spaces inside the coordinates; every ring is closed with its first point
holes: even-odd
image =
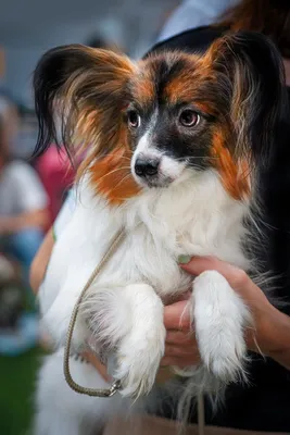
{"type": "Polygon", "coordinates": [[[288,0],[242,0],[228,9],[218,25],[234,32],[253,30],[268,36],[281,54],[290,58],[290,2],[288,0]]]}

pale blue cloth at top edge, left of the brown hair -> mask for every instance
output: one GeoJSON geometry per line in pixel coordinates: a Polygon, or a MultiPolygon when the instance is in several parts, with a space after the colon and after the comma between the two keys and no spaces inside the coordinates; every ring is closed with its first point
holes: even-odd
{"type": "Polygon", "coordinates": [[[169,17],[157,40],[168,39],[190,28],[207,26],[237,2],[238,0],[186,0],[169,17]]]}

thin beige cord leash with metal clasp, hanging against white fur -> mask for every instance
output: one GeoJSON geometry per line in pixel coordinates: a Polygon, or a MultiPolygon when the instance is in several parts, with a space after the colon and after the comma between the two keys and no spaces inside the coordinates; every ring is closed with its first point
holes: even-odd
{"type": "MultiPolygon", "coordinates": [[[[119,229],[113,240],[111,241],[105,254],[103,256],[102,260],[100,263],[96,266],[93,270],[92,274],[90,275],[87,284],[83,288],[79,297],[77,298],[77,301],[75,303],[70,325],[68,325],[68,331],[67,331],[67,336],[66,336],[66,343],[64,347],[64,360],[63,360],[63,372],[64,372],[64,377],[67,383],[67,385],[78,394],[91,396],[91,397],[112,397],[114,396],[117,390],[121,389],[121,381],[114,381],[112,385],[109,388],[87,388],[83,387],[81,385],[77,384],[71,374],[71,369],[70,369],[70,357],[71,357],[71,347],[72,347],[72,339],[73,339],[73,334],[74,334],[74,328],[76,324],[76,319],[77,314],[79,312],[79,307],[83,302],[83,299],[87,293],[87,290],[90,288],[94,279],[99,276],[99,274],[102,272],[104,266],[108,264],[108,262],[111,260],[111,258],[114,256],[118,247],[123,244],[126,237],[126,232],[124,228],[119,229]]],[[[198,430],[199,430],[199,435],[204,435],[205,428],[205,422],[204,422],[204,400],[203,400],[203,395],[200,394],[198,396],[198,430]]]]}

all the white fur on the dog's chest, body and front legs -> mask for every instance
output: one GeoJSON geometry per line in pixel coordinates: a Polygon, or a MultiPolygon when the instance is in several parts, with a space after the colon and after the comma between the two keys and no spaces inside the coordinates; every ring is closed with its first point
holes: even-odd
{"type": "MultiPolygon", "coordinates": [[[[119,207],[97,196],[83,178],[75,212],[54,247],[40,289],[43,324],[60,350],[48,357],[40,372],[36,435],[96,434],[110,415],[129,409],[124,396],[151,390],[164,352],[163,303],[192,287],[192,276],[181,271],[178,257],[211,254],[247,270],[241,244],[248,213],[249,204],[230,198],[214,170],[184,169],[167,188],[143,189],[119,207]],[[76,351],[91,340],[97,347],[110,345],[114,375],[124,389],[113,399],[88,398],[65,384],[62,347],[79,291],[122,226],[126,240],[92,285],[73,345],[76,351]]],[[[227,384],[242,371],[250,314],[213,271],[194,281],[190,309],[202,358],[201,365],[192,368],[194,395],[211,389],[213,380],[227,384]]],[[[90,365],[72,363],[73,376],[83,385],[103,386],[90,365]]]]}

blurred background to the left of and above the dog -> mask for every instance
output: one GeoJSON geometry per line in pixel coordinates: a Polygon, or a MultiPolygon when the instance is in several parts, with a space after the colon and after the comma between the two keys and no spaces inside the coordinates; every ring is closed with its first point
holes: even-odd
{"type": "Polygon", "coordinates": [[[31,74],[64,44],[117,46],[141,57],[177,0],[1,0],[0,4],[0,434],[30,433],[39,343],[28,269],[73,179],[52,147],[31,159],[37,123],[31,74]]]}

